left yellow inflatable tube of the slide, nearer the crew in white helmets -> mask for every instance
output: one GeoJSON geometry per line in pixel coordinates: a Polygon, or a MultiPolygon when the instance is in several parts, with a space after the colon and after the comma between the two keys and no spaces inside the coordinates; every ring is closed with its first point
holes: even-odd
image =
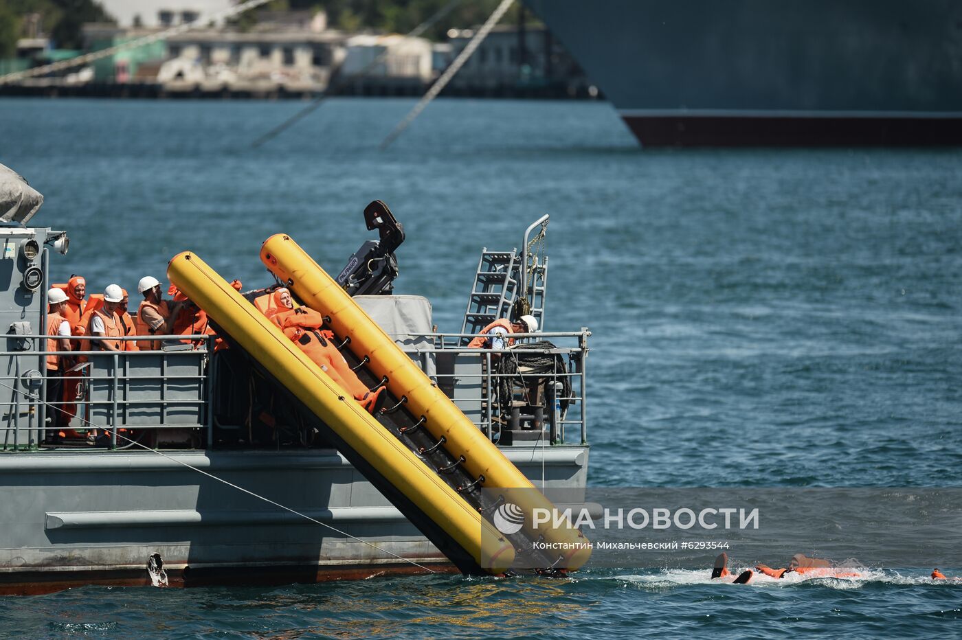
{"type": "Polygon", "coordinates": [[[327,425],[341,453],[459,569],[500,574],[511,566],[514,548],[476,509],[202,259],[179,254],[167,277],[327,425]]]}

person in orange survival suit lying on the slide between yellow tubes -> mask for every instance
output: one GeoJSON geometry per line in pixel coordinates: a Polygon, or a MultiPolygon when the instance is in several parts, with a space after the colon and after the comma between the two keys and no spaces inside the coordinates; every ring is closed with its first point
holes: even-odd
{"type": "Polygon", "coordinates": [[[293,308],[291,291],[284,287],[274,291],[273,296],[276,309],[268,309],[266,314],[271,322],[291,338],[331,380],[373,413],[384,398],[384,387],[369,391],[357,374],[351,371],[347,360],[334,346],[334,333],[321,329],[324,317],[320,313],[308,307],[293,308]]]}

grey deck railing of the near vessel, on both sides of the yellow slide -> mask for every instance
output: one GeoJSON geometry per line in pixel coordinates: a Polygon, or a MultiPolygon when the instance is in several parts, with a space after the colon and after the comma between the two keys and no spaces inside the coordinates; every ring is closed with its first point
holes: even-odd
{"type": "MultiPolygon", "coordinates": [[[[493,441],[505,444],[510,431],[535,443],[561,444],[569,441],[568,435],[583,444],[588,440],[585,364],[590,335],[587,329],[516,334],[519,344],[514,348],[495,350],[461,346],[462,333],[425,333],[414,336],[417,347],[400,346],[493,441]],[[525,344],[527,338],[554,346],[525,344]],[[560,358],[564,367],[531,373],[524,366],[529,357],[560,358]],[[498,366],[502,358],[513,358],[520,366],[505,372],[498,366]],[[510,399],[498,393],[499,385],[510,389],[510,399]],[[565,387],[570,393],[558,392],[565,387]],[[559,410],[566,403],[567,410],[559,410]]],[[[199,447],[204,431],[206,441],[214,442],[216,367],[210,366],[210,355],[215,337],[152,336],[165,341],[157,351],[70,352],[72,361],[86,361],[72,371],[48,373],[47,336],[8,336],[8,351],[0,352],[0,363],[6,365],[0,372],[0,450],[37,449],[58,439],[60,431],[74,444],[90,436],[90,446],[83,447],[90,451],[135,447],[132,439],[156,447],[175,431],[182,445],[193,442],[180,448],[199,447]],[[79,383],[77,399],[48,402],[47,385],[55,381],[79,383]],[[71,415],[67,424],[48,420],[63,411],[71,415]],[[195,434],[193,440],[190,434],[195,434]]]]}

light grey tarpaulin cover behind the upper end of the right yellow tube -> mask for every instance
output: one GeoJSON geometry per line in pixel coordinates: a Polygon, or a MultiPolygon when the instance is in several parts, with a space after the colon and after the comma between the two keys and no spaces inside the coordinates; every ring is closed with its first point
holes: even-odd
{"type": "Polygon", "coordinates": [[[390,335],[404,353],[417,362],[429,378],[435,378],[431,303],[421,296],[354,296],[354,301],[390,335]]]}

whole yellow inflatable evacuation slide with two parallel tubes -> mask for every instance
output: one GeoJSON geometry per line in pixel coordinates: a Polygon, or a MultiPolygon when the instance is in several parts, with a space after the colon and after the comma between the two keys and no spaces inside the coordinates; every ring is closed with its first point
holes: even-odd
{"type": "Polygon", "coordinates": [[[342,353],[387,387],[390,408],[369,414],[197,256],[173,258],[167,277],[314,413],[342,455],[462,572],[584,564],[591,551],[581,532],[557,522],[533,528],[533,509],[553,505],[289,236],[268,238],[261,258],[301,302],[330,318],[342,353]],[[494,488],[500,491],[481,491],[494,488]],[[491,522],[506,502],[526,515],[510,534],[491,522]]]}

